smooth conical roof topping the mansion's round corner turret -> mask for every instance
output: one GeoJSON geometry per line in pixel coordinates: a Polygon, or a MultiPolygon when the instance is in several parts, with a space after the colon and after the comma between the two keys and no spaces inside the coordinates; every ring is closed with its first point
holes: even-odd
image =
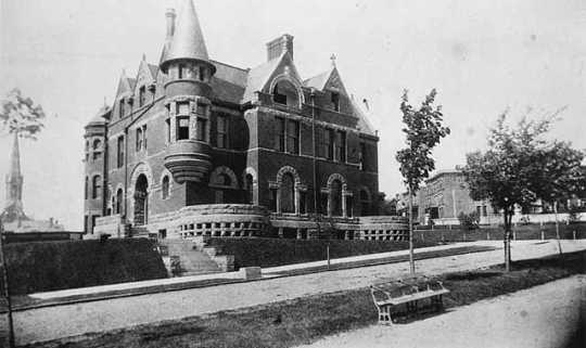
{"type": "Polygon", "coordinates": [[[183,0],[182,2],[182,8],[177,16],[175,33],[168,51],[164,54],[162,66],[175,60],[209,61],[193,2],[192,0],[183,0]]]}

